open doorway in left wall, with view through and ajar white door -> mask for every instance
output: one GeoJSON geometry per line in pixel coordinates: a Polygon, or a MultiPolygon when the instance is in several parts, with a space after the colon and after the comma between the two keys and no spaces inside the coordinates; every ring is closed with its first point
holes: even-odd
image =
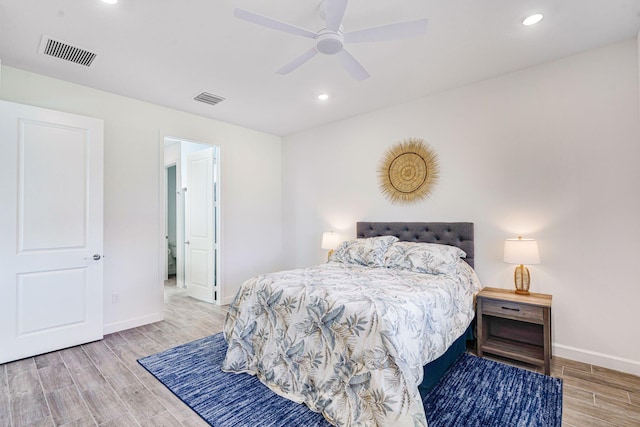
{"type": "Polygon", "coordinates": [[[162,277],[186,296],[220,304],[219,148],[166,137],[163,159],[162,277]]]}

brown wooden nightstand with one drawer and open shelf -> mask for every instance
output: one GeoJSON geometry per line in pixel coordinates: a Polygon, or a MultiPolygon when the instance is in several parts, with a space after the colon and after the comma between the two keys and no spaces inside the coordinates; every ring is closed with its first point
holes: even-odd
{"type": "Polygon", "coordinates": [[[478,356],[491,353],[551,372],[551,295],[484,288],[478,294],[478,356]]]}

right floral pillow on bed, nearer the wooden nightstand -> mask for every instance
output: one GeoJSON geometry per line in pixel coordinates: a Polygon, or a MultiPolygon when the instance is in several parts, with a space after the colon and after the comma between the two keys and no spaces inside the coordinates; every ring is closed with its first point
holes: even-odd
{"type": "Polygon", "coordinates": [[[457,269],[458,260],[466,256],[462,249],[455,246],[396,242],[387,250],[384,265],[419,273],[449,274],[457,269]]]}

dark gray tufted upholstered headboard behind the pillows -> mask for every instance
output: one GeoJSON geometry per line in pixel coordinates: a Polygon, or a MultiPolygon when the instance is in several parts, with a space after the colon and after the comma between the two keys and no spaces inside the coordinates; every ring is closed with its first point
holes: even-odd
{"type": "Polygon", "coordinates": [[[396,236],[408,242],[457,246],[467,253],[465,261],[473,267],[472,222],[358,222],[358,238],[396,236]]]}

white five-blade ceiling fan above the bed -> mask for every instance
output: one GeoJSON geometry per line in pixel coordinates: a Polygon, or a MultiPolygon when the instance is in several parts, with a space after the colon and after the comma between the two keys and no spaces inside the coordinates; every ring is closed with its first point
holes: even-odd
{"type": "Polygon", "coordinates": [[[344,48],[345,43],[398,40],[423,34],[427,30],[427,20],[418,19],[415,21],[344,33],[342,30],[342,20],[344,19],[344,14],[347,9],[347,1],[348,0],[323,0],[325,7],[325,27],[318,32],[309,31],[244,9],[235,9],[233,14],[236,18],[244,19],[245,21],[263,27],[315,40],[315,46],[279,68],[276,73],[289,74],[318,53],[323,53],[325,55],[336,55],[345,70],[358,81],[368,78],[369,73],[344,48]]]}

